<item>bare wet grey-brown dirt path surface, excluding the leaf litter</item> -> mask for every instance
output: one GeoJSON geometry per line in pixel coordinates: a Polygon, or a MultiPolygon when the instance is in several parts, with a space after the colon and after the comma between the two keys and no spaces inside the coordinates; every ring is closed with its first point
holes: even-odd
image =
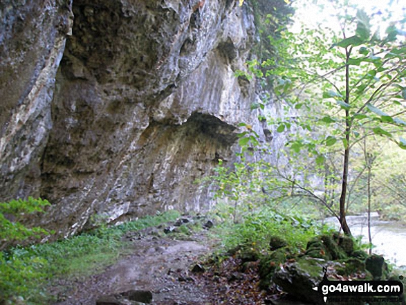
{"type": "MultiPolygon", "coordinates": [[[[210,253],[207,231],[194,234],[190,240],[157,238],[147,234],[131,241],[131,255],[104,272],[77,281],[61,281],[68,286],[67,297],[59,305],[94,305],[102,295],[128,290],[149,290],[151,304],[212,304],[210,287],[195,281],[190,271],[199,257],[210,253]]],[[[170,235],[170,234],[169,234],[170,235]]]]}

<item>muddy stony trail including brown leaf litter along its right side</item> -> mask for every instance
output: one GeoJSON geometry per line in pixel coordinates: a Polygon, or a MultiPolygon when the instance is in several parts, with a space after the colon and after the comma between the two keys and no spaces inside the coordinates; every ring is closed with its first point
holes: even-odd
{"type": "MultiPolygon", "coordinates": [[[[280,298],[279,290],[259,288],[259,261],[234,255],[221,264],[212,253],[219,247],[212,221],[200,219],[202,230],[185,234],[183,217],[176,223],[129,232],[129,255],[96,275],[59,279],[55,305],[302,305],[280,298]],[[182,230],[184,229],[184,230],[182,230]]],[[[284,295],[285,296],[285,295],[284,295]]]]}

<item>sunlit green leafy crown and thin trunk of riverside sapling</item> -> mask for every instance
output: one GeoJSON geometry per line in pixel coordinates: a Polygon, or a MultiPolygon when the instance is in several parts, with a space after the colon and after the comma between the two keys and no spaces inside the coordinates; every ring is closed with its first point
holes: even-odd
{"type": "MultiPolygon", "coordinates": [[[[323,178],[324,187],[319,186],[319,190],[324,188],[324,198],[313,197],[322,199],[330,212],[334,201],[339,201],[340,218],[345,219],[349,168],[357,157],[351,154],[354,145],[378,136],[388,138],[401,149],[406,147],[404,138],[399,137],[406,126],[402,118],[406,47],[398,39],[400,31],[396,27],[401,24],[391,23],[385,36],[380,37],[365,11],[351,6],[349,1],[331,1],[330,5],[338,12],[341,30],[325,24],[302,27],[299,33],[282,30],[270,37],[277,55],[265,59],[257,69],[267,77],[275,98],[282,104],[282,118],[267,122],[273,123],[277,132],[288,133],[286,147],[290,147],[290,156],[286,158],[290,163],[299,161],[298,168],[290,164],[290,170],[295,173],[306,169],[323,178]],[[303,164],[312,162],[305,158],[305,151],[314,156],[315,166],[303,164]],[[340,153],[344,166],[336,166],[340,153]],[[343,181],[341,185],[339,181],[343,181]]],[[[374,16],[373,21],[376,18],[380,17],[374,16]]],[[[293,175],[285,173],[282,178],[299,183],[303,191],[315,195],[315,187],[306,178],[290,178],[293,175]]],[[[343,229],[351,234],[345,222],[343,229]]]]}

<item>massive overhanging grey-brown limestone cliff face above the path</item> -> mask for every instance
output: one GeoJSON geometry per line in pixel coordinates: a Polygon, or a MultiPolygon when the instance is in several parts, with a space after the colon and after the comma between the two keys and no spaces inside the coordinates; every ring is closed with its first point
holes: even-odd
{"type": "Polygon", "coordinates": [[[207,208],[193,182],[232,158],[239,122],[257,124],[255,84],[234,76],[254,43],[248,9],[43,2],[0,4],[1,201],[47,198],[41,222],[62,234],[95,213],[207,208]]]}

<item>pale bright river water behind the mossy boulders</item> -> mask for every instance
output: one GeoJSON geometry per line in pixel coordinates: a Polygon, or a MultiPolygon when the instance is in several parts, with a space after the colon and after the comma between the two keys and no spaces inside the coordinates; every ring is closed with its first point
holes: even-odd
{"type": "MultiPolygon", "coordinates": [[[[340,223],[335,217],[326,218],[325,222],[331,223],[337,229],[340,228],[340,223]]],[[[347,223],[354,237],[362,235],[362,241],[369,242],[367,214],[347,216],[347,223]]],[[[383,255],[396,266],[406,266],[406,225],[396,221],[382,221],[378,213],[373,212],[371,237],[375,246],[372,248],[373,253],[383,255]]]]}

